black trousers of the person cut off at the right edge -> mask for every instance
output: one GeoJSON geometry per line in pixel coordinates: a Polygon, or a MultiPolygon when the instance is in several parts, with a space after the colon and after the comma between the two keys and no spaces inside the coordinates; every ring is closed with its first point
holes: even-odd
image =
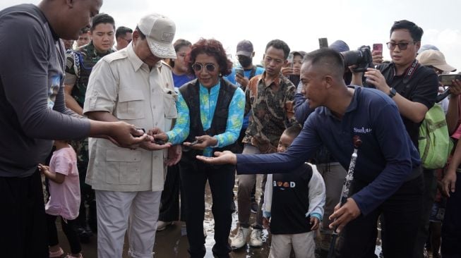
{"type": "Polygon", "coordinates": [[[442,257],[461,258],[461,173],[456,173],[455,192],[450,192],[442,223],[442,257]]]}

